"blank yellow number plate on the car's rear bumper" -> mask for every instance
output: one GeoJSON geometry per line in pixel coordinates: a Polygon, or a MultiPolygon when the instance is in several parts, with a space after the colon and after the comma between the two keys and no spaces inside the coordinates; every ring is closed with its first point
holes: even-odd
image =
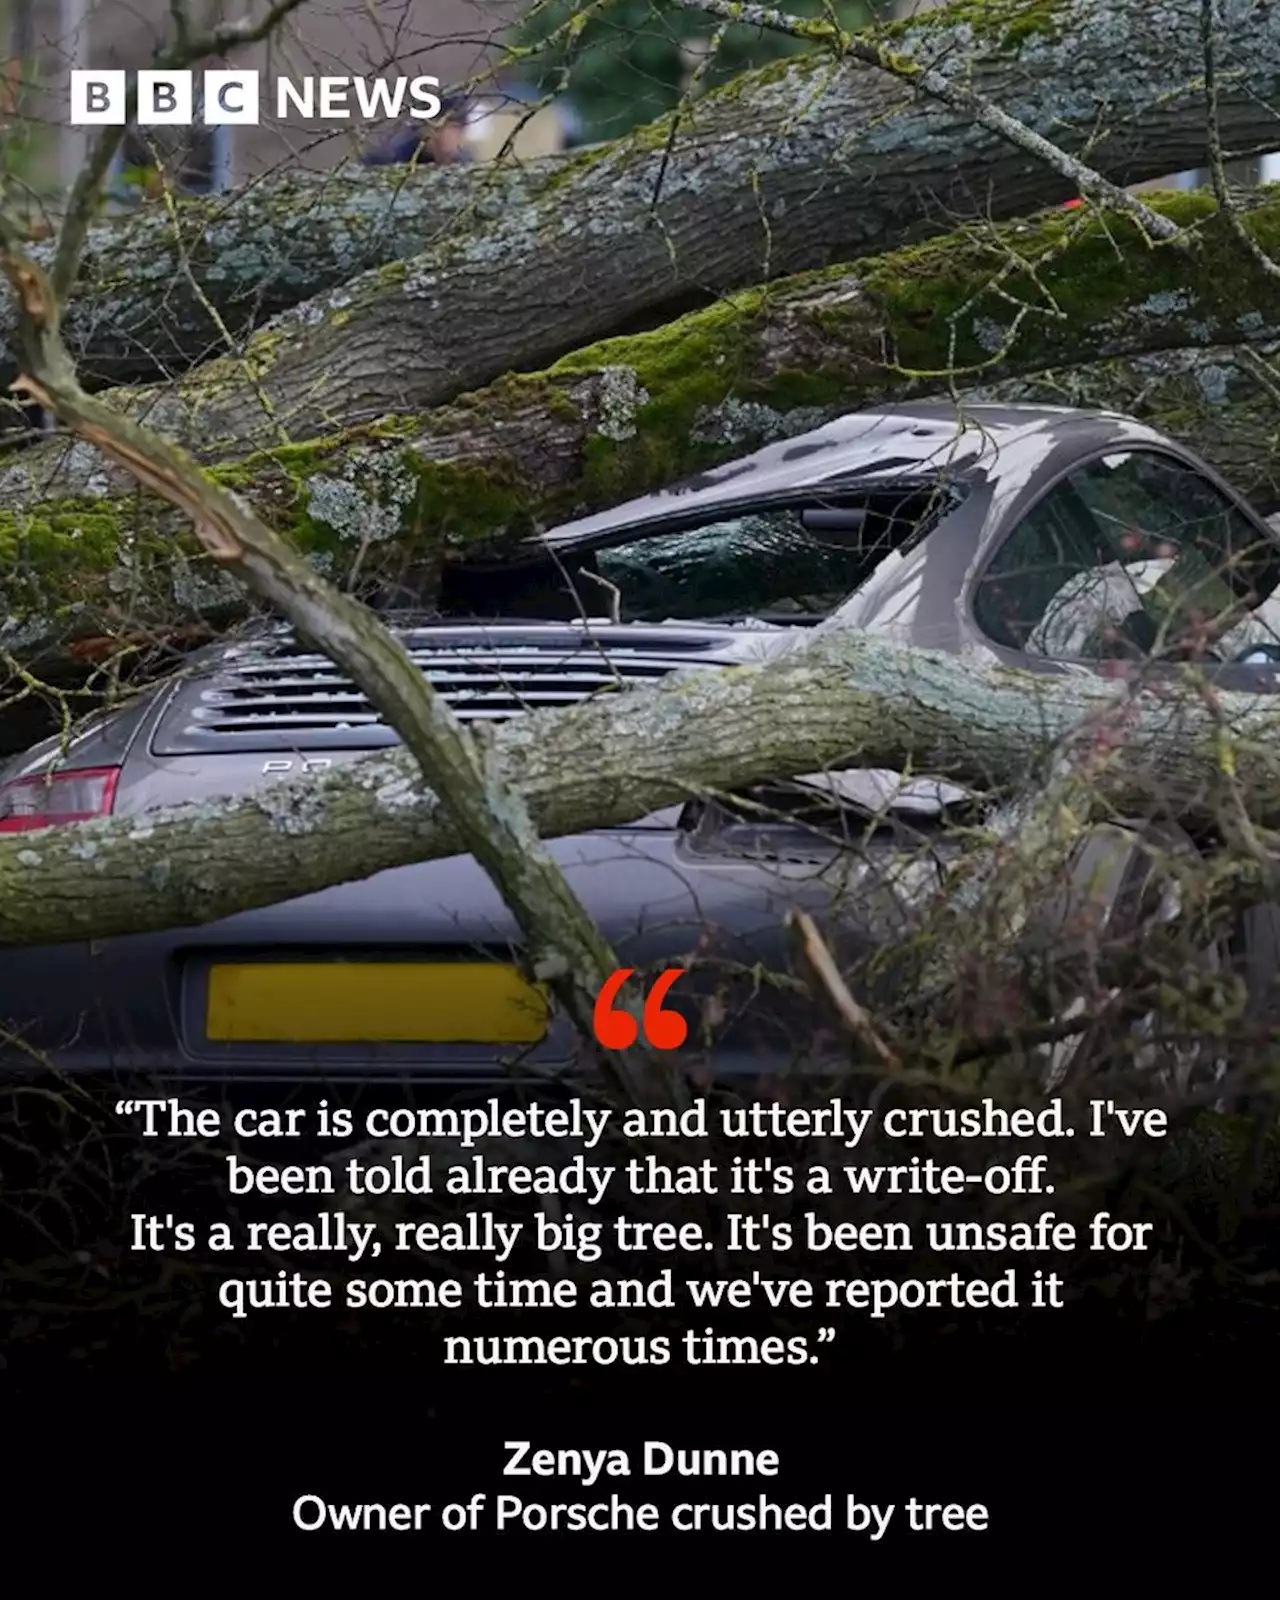
{"type": "Polygon", "coordinates": [[[205,1034],[259,1045],[534,1045],[549,1005],[496,962],[246,962],[210,973],[205,1034]]]}

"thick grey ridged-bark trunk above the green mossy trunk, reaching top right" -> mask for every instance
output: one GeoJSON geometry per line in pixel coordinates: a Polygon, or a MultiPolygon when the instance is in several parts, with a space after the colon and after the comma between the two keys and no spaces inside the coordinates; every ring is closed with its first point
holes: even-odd
{"type": "MultiPolygon", "coordinates": [[[[1222,11],[1222,139],[1234,150],[1264,149],[1275,142],[1280,32],[1256,0],[1224,0],[1222,11]]],[[[994,0],[898,24],[893,45],[923,62],[960,64],[968,86],[1133,182],[1206,157],[1198,16],[1200,0],[994,0]]],[[[243,357],[120,403],[210,458],[246,454],[282,434],[307,438],[437,405],[691,298],[1069,192],[1067,179],[970,115],[819,51],[750,74],[675,123],[586,152],[488,226],[451,229],[430,250],[333,293],[322,285],[322,298],[264,328],[243,357]]],[[[237,270],[229,245],[213,262],[232,274],[218,293],[251,302],[261,251],[240,251],[251,266],[237,270]]],[[[318,258],[331,266],[333,246],[318,258]]],[[[298,285],[296,274],[286,280],[298,285]]],[[[149,278],[150,302],[155,288],[149,278]]],[[[85,315],[88,326],[94,315],[85,315]]],[[[154,315],[134,306],[107,322],[150,326],[154,315]]],[[[166,333],[162,349],[178,355],[184,338],[166,333]]]]}

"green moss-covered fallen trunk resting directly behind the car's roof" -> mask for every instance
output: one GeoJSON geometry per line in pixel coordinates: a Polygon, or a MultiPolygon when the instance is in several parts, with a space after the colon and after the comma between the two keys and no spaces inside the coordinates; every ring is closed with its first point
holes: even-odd
{"type": "MultiPolygon", "coordinates": [[[[960,234],[741,294],[426,416],[262,451],[213,477],[331,576],[358,552],[376,582],[430,571],[442,550],[501,549],[834,410],[1082,357],[1110,357],[1102,371],[1115,376],[1141,352],[1278,338],[1280,282],[1243,259],[1213,202],[1152,203],[1198,229],[1200,248],[1152,246],[1134,224],[1085,213],[960,234]]],[[[1280,200],[1254,205],[1246,226],[1277,250],[1280,200]]],[[[1230,405],[1206,414],[1170,390],[1154,419],[1194,445],[1229,440],[1234,406],[1258,402],[1226,384],[1219,398],[1230,405]]],[[[1259,453],[1259,469],[1266,461],[1259,453]]],[[[238,590],[184,539],[170,506],[83,443],[26,451],[0,474],[10,618],[0,642],[30,659],[75,637],[226,621],[243,606],[238,590]]]]}

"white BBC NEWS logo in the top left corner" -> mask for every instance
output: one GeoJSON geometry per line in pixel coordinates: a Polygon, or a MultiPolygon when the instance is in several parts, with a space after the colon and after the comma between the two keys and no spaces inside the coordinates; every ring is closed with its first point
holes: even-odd
{"type": "MultiPolygon", "coordinates": [[[[258,72],[203,72],[198,99],[195,77],[194,72],[139,72],[133,120],[144,128],[190,126],[197,120],[206,126],[256,126],[262,120],[258,72]]],[[[280,122],[290,117],[434,122],[443,109],[438,88],[440,78],[275,78],[275,117],[280,122]]],[[[74,128],[118,126],[128,122],[126,114],[126,72],[72,72],[74,128]]]]}

